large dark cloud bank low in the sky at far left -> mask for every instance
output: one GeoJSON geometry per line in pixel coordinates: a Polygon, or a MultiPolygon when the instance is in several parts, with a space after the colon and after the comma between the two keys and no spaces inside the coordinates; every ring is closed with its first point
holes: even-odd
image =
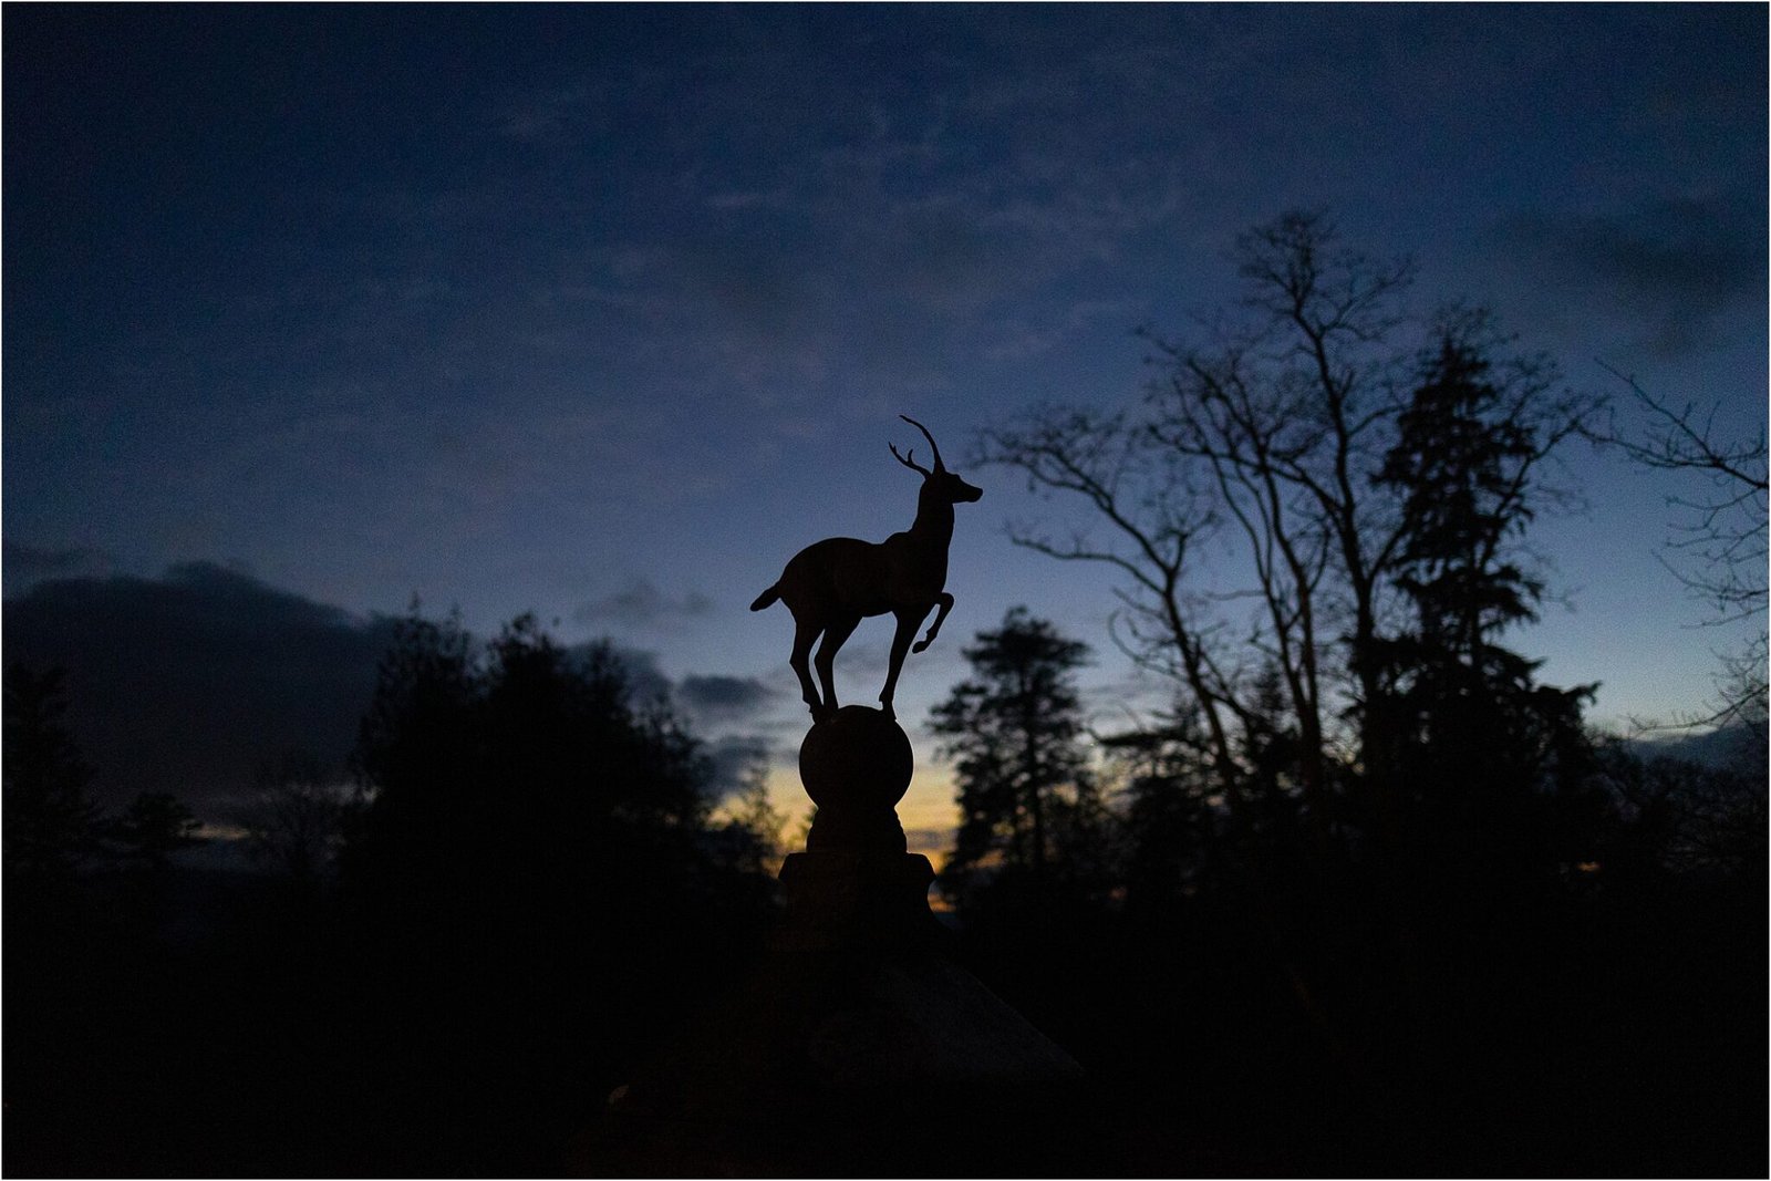
{"type": "Polygon", "coordinates": [[[285,753],[342,767],[391,629],[189,563],[39,583],[5,602],[5,659],[67,671],[103,804],[172,791],[213,814],[285,753]]]}

